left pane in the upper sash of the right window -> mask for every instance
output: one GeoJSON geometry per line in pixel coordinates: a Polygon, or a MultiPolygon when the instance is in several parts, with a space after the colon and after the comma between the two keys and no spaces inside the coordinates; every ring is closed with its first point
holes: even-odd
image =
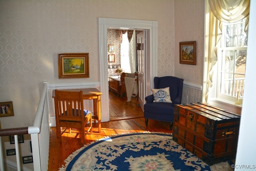
{"type": "Polygon", "coordinates": [[[236,47],[237,46],[237,24],[231,24],[226,26],[225,41],[226,47],[236,47]]]}

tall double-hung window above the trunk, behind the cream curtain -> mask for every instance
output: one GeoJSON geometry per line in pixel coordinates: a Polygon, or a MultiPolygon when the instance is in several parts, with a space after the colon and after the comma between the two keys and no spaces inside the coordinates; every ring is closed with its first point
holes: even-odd
{"type": "Polygon", "coordinates": [[[222,36],[218,45],[217,98],[235,101],[244,95],[247,34],[245,19],[233,23],[222,22],[222,36]]]}

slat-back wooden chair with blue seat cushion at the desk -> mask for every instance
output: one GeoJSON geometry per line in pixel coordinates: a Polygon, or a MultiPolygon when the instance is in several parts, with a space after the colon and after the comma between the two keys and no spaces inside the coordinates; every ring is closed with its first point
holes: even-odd
{"type": "Polygon", "coordinates": [[[61,143],[61,135],[71,128],[79,130],[82,143],[85,143],[85,135],[90,131],[92,134],[92,113],[84,109],[83,92],[75,91],[58,91],[55,90],[55,117],[56,117],[56,133],[61,143]],[[86,123],[90,121],[90,127],[85,131],[86,123]],[[65,127],[62,132],[61,127],[65,127]]]}

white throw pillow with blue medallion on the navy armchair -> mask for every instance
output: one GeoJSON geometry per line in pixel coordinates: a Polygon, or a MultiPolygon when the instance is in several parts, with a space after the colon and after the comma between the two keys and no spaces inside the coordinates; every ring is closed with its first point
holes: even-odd
{"type": "Polygon", "coordinates": [[[172,103],[171,96],[170,96],[170,87],[160,88],[160,89],[152,88],[151,90],[154,96],[153,102],[172,103]]]}

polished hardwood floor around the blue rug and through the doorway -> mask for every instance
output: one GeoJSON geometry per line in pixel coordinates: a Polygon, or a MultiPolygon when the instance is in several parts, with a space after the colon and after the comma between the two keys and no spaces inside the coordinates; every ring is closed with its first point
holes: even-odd
{"type": "MultiPolygon", "coordinates": [[[[146,127],[143,111],[140,107],[136,106],[134,101],[126,102],[126,100],[121,100],[120,97],[115,96],[110,96],[110,98],[112,98],[110,99],[110,110],[112,110],[110,113],[113,114],[112,120],[102,123],[101,133],[97,133],[97,129],[93,129],[92,135],[86,135],[86,143],[91,143],[108,135],[128,132],[151,131],[172,133],[168,122],[149,120],[146,127]],[[132,107],[128,107],[128,105],[132,105],[132,107]],[[118,120],[120,118],[122,120],[118,120]]],[[[93,127],[95,126],[93,125],[93,127]]],[[[83,144],[78,133],[64,133],[62,134],[62,143],[58,143],[56,127],[51,127],[48,171],[58,171],[58,168],[65,164],[64,160],[81,147],[83,147],[83,144]]]]}

